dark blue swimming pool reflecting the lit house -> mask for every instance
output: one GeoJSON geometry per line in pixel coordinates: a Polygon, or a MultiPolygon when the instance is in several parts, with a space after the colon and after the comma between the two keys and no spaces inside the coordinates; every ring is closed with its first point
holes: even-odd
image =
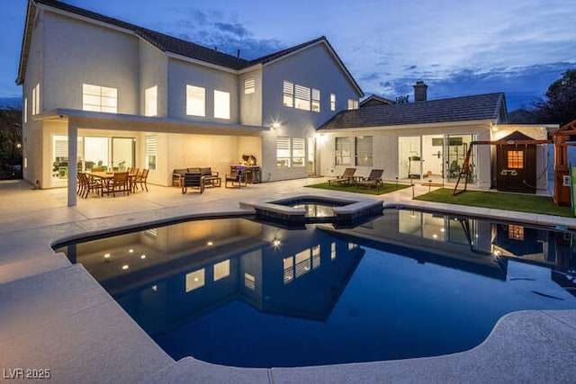
{"type": "Polygon", "coordinates": [[[574,309],[572,242],[384,210],[356,228],[211,219],[62,249],[174,359],[277,367],[455,353],[511,311],[574,309]]]}

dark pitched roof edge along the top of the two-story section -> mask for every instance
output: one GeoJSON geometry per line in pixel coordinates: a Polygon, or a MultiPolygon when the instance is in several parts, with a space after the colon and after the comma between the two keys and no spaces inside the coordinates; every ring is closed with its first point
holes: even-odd
{"type": "Polygon", "coordinates": [[[310,41],[303,42],[302,44],[298,44],[294,47],[283,49],[272,53],[270,55],[263,56],[261,58],[256,58],[254,60],[247,60],[244,58],[239,58],[233,55],[229,55],[224,52],[217,51],[216,49],[206,48],[202,45],[195,44],[190,41],[177,39],[172,36],[168,36],[164,33],[160,33],[157,31],[148,30],[147,28],[140,27],[138,25],[132,24],[130,22],[122,22],[121,20],[114,19],[109,16],[105,16],[101,13],[95,13],[92,11],[88,11],[83,8],[79,8],[74,5],[62,3],[57,0],[33,0],[30,1],[28,6],[27,12],[27,20],[26,26],[24,28],[24,38],[23,38],[23,48],[21,53],[21,61],[20,61],[20,68],[18,73],[18,78],[16,79],[17,84],[23,84],[23,77],[25,67],[28,61],[28,48],[30,46],[31,40],[31,22],[33,21],[33,13],[36,12],[35,4],[43,4],[47,5],[52,8],[56,8],[60,11],[68,12],[68,13],[75,13],[79,16],[92,19],[97,22],[105,22],[107,24],[111,24],[113,26],[119,27],[121,29],[125,29],[128,31],[132,31],[137,34],[143,40],[148,41],[150,44],[157,47],[164,52],[171,52],[175,53],[176,55],[181,55],[186,58],[194,58],[197,60],[201,60],[207,63],[211,63],[220,67],[227,67],[229,69],[239,70],[246,67],[251,67],[257,64],[265,65],[272,61],[275,61],[279,58],[284,58],[287,55],[295,53],[301,49],[306,49],[311,47],[317,43],[324,43],[329,49],[330,54],[337,60],[338,64],[342,67],[343,72],[350,80],[350,83],[356,88],[358,94],[363,94],[362,89],[356,83],[354,77],[350,74],[347,67],[344,65],[342,60],[338,57],[336,51],[330,45],[328,39],[325,36],[321,36],[320,38],[313,39],[310,41]]]}

